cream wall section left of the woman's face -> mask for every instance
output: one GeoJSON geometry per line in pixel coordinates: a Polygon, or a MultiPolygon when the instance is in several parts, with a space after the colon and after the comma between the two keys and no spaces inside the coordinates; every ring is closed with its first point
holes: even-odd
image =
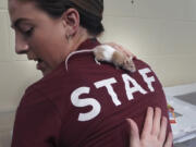
{"type": "Polygon", "coordinates": [[[35,63],[14,52],[7,0],[0,0],[0,112],[15,110],[25,88],[40,77],[35,63]]]}

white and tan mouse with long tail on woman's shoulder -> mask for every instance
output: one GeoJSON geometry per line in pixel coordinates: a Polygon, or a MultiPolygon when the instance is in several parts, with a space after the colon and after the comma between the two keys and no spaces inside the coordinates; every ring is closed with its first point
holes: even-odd
{"type": "Polygon", "coordinates": [[[109,45],[100,45],[91,50],[79,50],[79,51],[71,52],[65,60],[66,70],[68,70],[69,59],[73,54],[83,53],[83,52],[93,52],[95,56],[95,61],[98,64],[100,64],[100,62],[103,61],[114,64],[117,69],[121,68],[132,73],[136,71],[135,64],[133,62],[133,57],[127,57],[126,54],[123,54],[122,52],[115,50],[109,45]]]}

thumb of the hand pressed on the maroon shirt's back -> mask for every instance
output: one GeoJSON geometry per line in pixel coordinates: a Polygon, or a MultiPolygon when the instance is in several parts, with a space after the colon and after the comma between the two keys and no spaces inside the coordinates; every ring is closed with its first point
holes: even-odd
{"type": "Polygon", "coordinates": [[[130,147],[139,146],[139,133],[137,124],[132,119],[126,119],[130,125],[130,147]]]}

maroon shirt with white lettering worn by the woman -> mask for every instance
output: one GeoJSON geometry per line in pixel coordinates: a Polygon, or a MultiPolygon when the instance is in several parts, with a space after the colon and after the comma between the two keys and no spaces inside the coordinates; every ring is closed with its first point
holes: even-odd
{"type": "MultiPolygon", "coordinates": [[[[97,45],[89,39],[78,50],[97,45]]],[[[160,107],[168,117],[157,76],[143,61],[134,62],[136,73],[98,65],[91,52],[71,57],[68,71],[61,63],[26,89],[12,147],[128,147],[126,118],[142,131],[147,107],[160,107]]]]}

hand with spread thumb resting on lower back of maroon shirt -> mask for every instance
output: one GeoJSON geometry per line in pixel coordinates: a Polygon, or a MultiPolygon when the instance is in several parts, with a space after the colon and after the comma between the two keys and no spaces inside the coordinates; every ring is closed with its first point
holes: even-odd
{"type": "Polygon", "coordinates": [[[137,124],[132,119],[127,122],[131,126],[130,147],[172,147],[172,133],[166,138],[168,121],[166,117],[161,119],[160,108],[156,108],[155,112],[151,107],[148,108],[140,137],[137,124]]]}

